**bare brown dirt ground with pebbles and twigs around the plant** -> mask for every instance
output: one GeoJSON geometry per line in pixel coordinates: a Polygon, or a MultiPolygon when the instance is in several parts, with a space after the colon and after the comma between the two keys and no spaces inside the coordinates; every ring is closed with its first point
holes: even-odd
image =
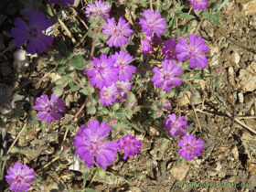
{"type": "MultiPolygon", "coordinates": [[[[0,51],[8,46],[10,37],[6,37],[5,33],[10,31],[16,17],[15,13],[10,13],[0,26],[0,51]]],[[[2,17],[7,15],[3,12],[0,16],[1,24],[2,17]]],[[[256,64],[255,53],[249,51],[256,51],[256,20],[253,16],[243,16],[238,2],[230,0],[221,9],[220,22],[221,27],[216,30],[204,21],[198,31],[198,34],[204,37],[208,44],[209,66],[212,69],[222,68],[220,88],[213,92],[208,80],[195,80],[201,85],[201,100],[196,106],[197,117],[187,99],[188,93],[171,101],[175,109],[173,112],[187,117],[187,132],[192,133],[197,129],[195,133],[197,138],[205,142],[206,148],[203,155],[191,162],[176,165],[176,140],[171,140],[170,144],[164,145],[163,138],[154,127],[144,127],[143,133],[126,130],[143,140],[141,153],[128,160],[123,160],[123,155],[117,155],[114,164],[106,171],[119,173],[129,180],[129,176],[136,170],[140,171],[144,178],[133,178],[130,180],[131,184],[127,184],[122,178],[107,174],[105,180],[97,176],[91,188],[104,192],[256,191],[256,136],[244,126],[245,124],[256,131],[255,118],[250,118],[256,112],[253,104],[253,91],[256,88],[253,90],[247,88],[240,78],[242,70],[251,72],[256,64]],[[224,100],[217,102],[218,96],[216,95],[224,100]],[[223,105],[227,105],[227,108],[223,105]],[[235,119],[240,123],[234,121],[235,119]]],[[[69,39],[67,42],[69,44],[69,39]]],[[[53,47],[56,48],[57,45],[53,47]]],[[[12,65],[11,60],[15,49],[11,49],[0,58],[1,82],[12,86],[13,89],[16,89],[17,85],[13,82],[17,80],[17,77],[9,66],[12,65]],[[4,74],[6,69],[10,69],[11,72],[4,74]]],[[[37,72],[31,77],[43,77],[48,72],[45,68],[44,63],[38,65],[37,72]]],[[[36,96],[51,92],[54,86],[54,83],[50,81],[52,78],[54,77],[37,83],[28,83],[21,90],[22,99],[27,102],[27,111],[19,121],[13,118],[6,122],[5,126],[1,124],[0,143],[3,144],[5,152],[14,141],[21,127],[20,124],[26,120],[27,114],[35,112],[31,109],[31,103],[37,98],[36,96]],[[3,136],[4,132],[5,136],[3,136]]],[[[248,83],[251,82],[248,78],[248,83]]],[[[67,141],[62,140],[66,127],[69,125],[67,124],[69,119],[80,109],[85,96],[72,93],[65,94],[64,98],[66,98],[66,107],[70,114],[66,114],[60,123],[47,123],[45,133],[41,132],[41,125],[37,128],[28,128],[16,144],[16,147],[25,153],[12,154],[7,161],[8,166],[20,161],[37,171],[54,159],[60,146],[69,147],[73,144],[72,138],[77,134],[77,129],[69,131],[67,141]]],[[[88,119],[90,116],[78,117],[78,123],[82,124],[88,119]]],[[[65,160],[57,160],[38,173],[44,179],[45,184],[35,181],[32,183],[31,191],[79,190],[83,185],[83,175],[78,171],[81,168],[71,156],[66,157],[65,160]]],[[[89,176],[87,185],[91,177],[92,175],[89,176]]],[[[2,180],[0,186],[2,186],[0,191],[4,190],[7,183],[2,180]]]]}

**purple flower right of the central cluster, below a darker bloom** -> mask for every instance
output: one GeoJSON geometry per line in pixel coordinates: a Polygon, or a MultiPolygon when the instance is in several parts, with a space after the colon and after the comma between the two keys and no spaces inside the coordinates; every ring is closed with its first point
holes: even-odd
{"type": "Polygon", "coordinates": [[[182,73],[182,69],[180,66],[177,66],[176,62],[172,60],[164,60],[162,61],[163,70],[155,67],[153,71],[155,75],[151,79],[154,82],[155,87],[160,88],[163,84],[163,91],[170,91],[173,86],[181,85],[181,78],[176,78],[175,75],[180,75],[182,73]]]}

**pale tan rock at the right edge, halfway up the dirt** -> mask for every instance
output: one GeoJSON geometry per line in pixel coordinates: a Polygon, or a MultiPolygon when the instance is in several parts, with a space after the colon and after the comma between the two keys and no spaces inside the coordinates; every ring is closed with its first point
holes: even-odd
{"type": "Polygon", "coordinates": [[[254,91],[256,89],[256,76],[245,69],[240,69],[240,76],[235,80],[238,87],[243,91],[254,91]]]}

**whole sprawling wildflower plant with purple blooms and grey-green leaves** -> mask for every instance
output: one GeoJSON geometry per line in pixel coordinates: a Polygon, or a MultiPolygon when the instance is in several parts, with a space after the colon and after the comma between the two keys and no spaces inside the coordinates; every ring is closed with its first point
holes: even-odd
{"type": "MultiPolygon", "coordinates": [[[[176,114],[179,109],[176,101],[189,91],[190,105],[200,103],[200,85],[194,80],[210,80],[211,93],[221,101],[215,91],[221,83],[221,69],[209,66],[208,41],[196,35],[200,24],[195,18],[205,16],[209,23],[219,26],[219,7],[223,4],[209,10],[207,0],[189,0],[191,11],[187,13],[185,5],[173,5],[172,1],[161,5],[158,1],[150,4],[136,1],[125,5],[123,1],[90,0],[84,16],[78,16],[82,17],[78,23],[83,27],[74,21],[58,19],[66,32],[63,33],[65,41],[63,36],[55,42],[56,45],[53,41],[59,38],[50,33],[53,23],[49,17],[54,20],[59,18],[59,13],[65,17],[65,13],[70,12],[69,5],[75,1],[50,1],[47,19],[43,12],[27,11],[28,25],[17,17],[11,37],[14,37],[16,47],[27,46],[28,53],[38,54],[38,71],[43,66],[42,70],[58,77],[52,90],[51,86],[49,89],[45,85],[41,87],[44,80],[39,79],[37,83],[32,80],[31,86],[39,91],[34,105],[39,111],[39,120],[29,116],[29,121],[33,125],[43,122],[40,124],[43,126],[44,122],[60,121],[59,125],[65,128],[63,140],[75,135],[73,140],[70,138],[69,147],[73,149],[68,154],[77,155],[83,167],[79,171],[84,174],[84,184],[92,174],[92,180],[97,174],[101,178],[106,174],[120,177],[104,170],[115,163],[117,153],[121,151],[123,160],[141,153],[143,141],[136,140],[135,135],[145,133],[145,127],[154,127],[159,132],[163,138],[161,149],[172,143],[176,155],[181,155],[184,160],[202,155],[204,141],[188,131],[186,114],[176,114]],[[60,6],[52,3],[60,3],[60,6]],[[131,18],[123,13],[122,16],[115,15],[113,4],[116,9],[122,4],[127,6],[131,18]],[[134,14],[135,4],[142,9],[141,15],[139,12],[134,14]],[[55,9],[58,10],[56,13],[55,9]],[[67,39],[70,39],[69,44],[67,39]],[[47,49],[48,54],[42,56],[40,53],[47,49]],[[48,95],[51,95],[50,99],[48,95]],[[77,110],[78,106],[80,109],[77,110]],[[75,114],[70,112],[73,110],[75,114]],[[69,115],[72,117],[68,118],[69,115]],[[63,123],[62,116],[68,125],[63,123]],[[76,131],[76,127],[80,129],[76,131]],[[134,136],[129,134],[131,129],[134,136]]],[[[44,4],[48,5],[48,2],[44,4]]],[[[76,5],[72,9],[76,9],[76,5]]],[[[1,162],[2,157],[6,161],[6,156],[0,155],[1,162]]],[[[0,165],[0,170],[4,170],[5,164],[0,165]]],[[[31,187],[28,183],[36,179],[34,174],[35,171],[27,165],[16,163],[7,171],[5,180],[12,183],[10,190],[27,191],[31,187]]],[[[138,170],[133,170],[130,179],[134,176],[144,177],[138,170]]]]}

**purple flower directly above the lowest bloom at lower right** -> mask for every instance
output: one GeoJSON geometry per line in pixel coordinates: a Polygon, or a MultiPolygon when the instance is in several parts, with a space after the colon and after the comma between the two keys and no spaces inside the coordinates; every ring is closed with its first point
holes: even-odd
{"type": "Polygon", "coordinates": [[[165,119],[165,130],[170,130],[168,134],[170,136],[184,135],[187,133],[185,128],[187,128],[187,121],[184,121],[185,116],[179,116],[176,120],[176,114],[169,114],[168,119],[165,119]]]}

